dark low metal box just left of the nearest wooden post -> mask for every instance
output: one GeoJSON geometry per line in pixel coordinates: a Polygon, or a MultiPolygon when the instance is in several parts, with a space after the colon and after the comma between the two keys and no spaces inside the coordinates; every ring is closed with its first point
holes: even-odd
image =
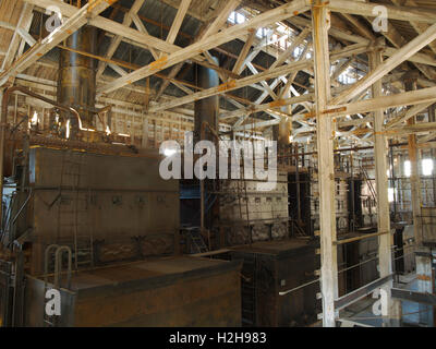
{"type": "Polygon", "coordinates": [[[244,260],[242,312],[249,326],[304,326],[316,322],[318,282],[315,245],[302,240],[256,242],[230,248],[231,260],[244,260]]]}

